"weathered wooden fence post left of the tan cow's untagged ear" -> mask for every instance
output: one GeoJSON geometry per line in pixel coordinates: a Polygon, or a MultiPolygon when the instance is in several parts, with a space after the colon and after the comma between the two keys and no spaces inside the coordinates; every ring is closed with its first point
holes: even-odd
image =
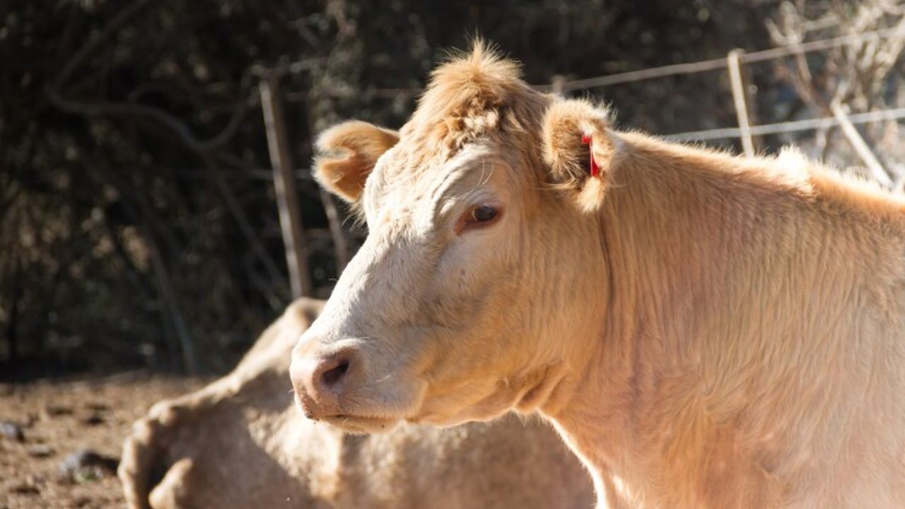
{"type": "Polygon", "coordinates": [[[312,288],[304,228],[299,212],[299,195],[295,189],[292,154],[286,133],[286,121],[283,118],[279,77],[273,74],[264,76],[259,91],[264,128],[267,131],[267,147],[270,150],[273,168],[273,187],[280,209],[280,228],[286,251],[286,264],[289,266],[292,297],[297,299],[304,295],[310,296],[312,288]]]}

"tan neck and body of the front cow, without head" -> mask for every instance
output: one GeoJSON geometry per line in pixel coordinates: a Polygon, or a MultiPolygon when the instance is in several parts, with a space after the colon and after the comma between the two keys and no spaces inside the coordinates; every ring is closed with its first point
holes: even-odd
{"type": "Polygon", "coordinates": [[[548,418],[639,507],[905,506],[898,199],[620,139],[605,340],[548,418]]]}

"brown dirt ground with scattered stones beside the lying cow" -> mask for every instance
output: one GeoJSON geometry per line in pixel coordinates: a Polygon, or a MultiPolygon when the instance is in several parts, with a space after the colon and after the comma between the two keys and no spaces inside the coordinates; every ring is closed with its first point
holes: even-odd
{"type": "Polygon", "coordinates": [[[123,507],[114,468],[132,422],[202,385],[148,374],[0,384],[0,509],[123,507]],[[85,449],[98,456],[73,463],[85,449]]]}

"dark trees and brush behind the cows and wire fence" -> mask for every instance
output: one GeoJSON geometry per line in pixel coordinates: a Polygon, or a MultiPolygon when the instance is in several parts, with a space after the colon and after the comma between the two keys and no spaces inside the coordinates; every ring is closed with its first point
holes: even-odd
{"type": "MultiPolygon", "coordinates": [[[[220,371],[290,300],[259,83],[281,80],[306,256],[337,250],[310,178],[314,133],[398,127],[472,34],[529,82],[723,58],[902,24],[892,1],[0,1],[0,379],[71,370],[220,371]],[[197,361],[186,362],[189,341],[197,361]]],[[[761,122],[901,106],[901,38],[748,66],[761,122]]],[[[590,91],[624,128],[734,127],[725,70],[590,91]]],[[[898,185],[899,124],[862,128],[898,185]]],[[[777,135],[860,164],[838,130],[777,135]]],[[[719,141],[738,149],[734,140],[719,141]]],[[[859,171],[858,168],[853,168],[859,171]]]]}

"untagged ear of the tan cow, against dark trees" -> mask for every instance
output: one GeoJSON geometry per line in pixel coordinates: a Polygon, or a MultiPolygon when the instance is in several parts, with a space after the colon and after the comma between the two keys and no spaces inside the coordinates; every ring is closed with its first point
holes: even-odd
{"type": "Polygon", "coordinates": [[[314,176],[331,193],[356,202],[377,158],[398,141],[395,130],[360,120],[335,125],[318,138],[320,155],[314,159],[314,176]]]}

